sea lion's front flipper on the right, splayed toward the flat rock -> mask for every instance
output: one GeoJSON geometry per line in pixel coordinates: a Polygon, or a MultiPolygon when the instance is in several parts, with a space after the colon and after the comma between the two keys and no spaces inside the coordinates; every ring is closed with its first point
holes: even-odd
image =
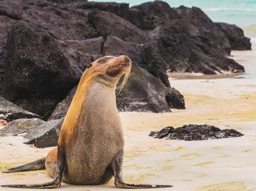
{"type": "Polygon", "coordinates": [[[117,153],[115,158],[112,161],[111,167],[113,169],[113,174],[115,177],[115,186],[117,188],[170,188],[171,185],[151,185],[151,184],[127,184],[124,183],[122,179],[122,161],[123,161],[123,152],[120,151],[117,153]]]}

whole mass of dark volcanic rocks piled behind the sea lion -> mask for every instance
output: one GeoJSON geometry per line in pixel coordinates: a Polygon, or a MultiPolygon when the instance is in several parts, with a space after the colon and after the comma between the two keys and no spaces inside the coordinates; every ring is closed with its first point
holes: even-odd
{"type": "MultiPolygon", "coordinates": [[[[239,30],[233,33],[243,36],[239,30]]],[[[0,91],[3,83],[4,97],[46,119],[76,86],[88,63],[106,54],[127,54],[139,66],[137,71],[142,67],[167,87],[167,103],[162,104],[162,95],[154,94],[150,100],[160,105],[150,111],[166,111],[166,104],[184,108],[183,97],[170,88],[167,69],[242,72],[242,66],[225,57],[231,51],[231,41],[199,8],[172,8],[163,1],[129,8],[127,3],[83,0],[3,0],[0,91]]],[[[145,71],[142,73],[145,76],[145,71]]],[[[144,84],[141,91],[145,90],[144,84]]],[[[132,101],[132,96],[126,95],[132,101]]],[[[122,103],[125,100],[122,97],[122,103]]]]}

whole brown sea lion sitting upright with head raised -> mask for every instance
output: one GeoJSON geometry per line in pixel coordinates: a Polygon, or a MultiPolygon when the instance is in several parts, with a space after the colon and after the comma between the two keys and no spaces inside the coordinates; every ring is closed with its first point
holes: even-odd
{"type": "Polygon", "coordinates": [[[53,181],[4,185],[10,188],[55,188],[68,184],[104,184],[114,176],[118,188],[168,188],[169,185],[126,184],[122,179],[124,134],[115,89],[131,69],[127,56],[104,56],[85,70],[61,126],[57,143],[46,158],[3,173],[46,169],[53,181]]]}

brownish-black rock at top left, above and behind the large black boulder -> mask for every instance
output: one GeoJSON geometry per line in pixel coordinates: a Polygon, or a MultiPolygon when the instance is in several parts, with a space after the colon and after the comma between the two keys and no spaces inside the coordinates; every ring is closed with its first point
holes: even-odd
{"type": "Polygon", "coordinates": [[[78,9],[76,5],[75,1],[57,4],[27,0],[21,1],[19,6],[23,6],[21,20],[38,25],[56,39],[84,40],[98,37],[97,31],[87,20],[89,10],[78,9]]]}

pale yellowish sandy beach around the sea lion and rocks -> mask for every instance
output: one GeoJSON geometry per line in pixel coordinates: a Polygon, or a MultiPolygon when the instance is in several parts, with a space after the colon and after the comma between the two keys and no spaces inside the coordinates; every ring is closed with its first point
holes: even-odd
{"type": "MultiPolygon", "coordinates": [[[[126,139],[123,172],[126,181],[173,185],[160,190],[256,190],[256,39],[252,41],[254,50],[232,52],[232,58],[245,67],[246,73],[242,75],[207,79],[198,74],[193,79],[188,79],[191,76],[187,74],[171,75],[171,86],[184,94],[186,109],[162,114],[120,113],[126,139]],[[208,141],[172,141],[148,136],[150,131],[184,124],[235,128],[244,136],[208,141]]],[[[41,158],[51,150],[24,145],[22,141],[21,137],[0,138],[0,171],[41,158]]],[[[45,171],[0,173],[0,185],[49,179],[45,171]]],[[[102,186],[62,184],[58,190],[119,189],[114,187],[112,179],[102,186]]]]}

